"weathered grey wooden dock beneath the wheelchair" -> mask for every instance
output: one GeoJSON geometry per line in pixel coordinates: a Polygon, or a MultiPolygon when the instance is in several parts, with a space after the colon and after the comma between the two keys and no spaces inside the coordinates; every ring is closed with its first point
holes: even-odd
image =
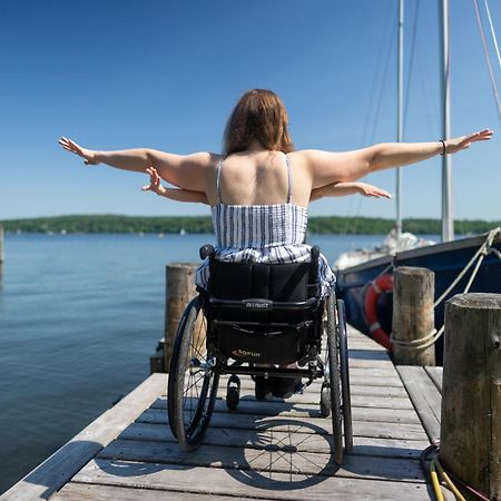
{"type": "Polygon", "coordinates": [[[243,377],[240,404],[229,412],[222,381],[204,443],[186,453],[167,423],[166,374],[154,374],[0,499],[433,499],[419,458],[436,434],[430,423],[440,420],[440,374],[396,370],[354,330],[348,346],[354,449],[341,468],[331,455],[331,420],[320,413],[320,382],[286,401],[257,402],[243,377]],[[428,435],[416,409],[428,415],[428,435]]]}

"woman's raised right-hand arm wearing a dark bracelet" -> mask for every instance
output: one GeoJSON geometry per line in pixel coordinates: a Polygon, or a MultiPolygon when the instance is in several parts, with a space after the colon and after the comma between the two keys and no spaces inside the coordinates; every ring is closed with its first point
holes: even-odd
{"type": "Polygon", "coordinates": [[[369,148],[345,153],[304,150],[312,171],[313,188],[336,181],[353,181],[382,169],[400,167],[440,155],[451,155],[470,147],[472,143],[492,137],[492,130],[484,129],[469,136],[434,143],[383,143],[369,148]]]}

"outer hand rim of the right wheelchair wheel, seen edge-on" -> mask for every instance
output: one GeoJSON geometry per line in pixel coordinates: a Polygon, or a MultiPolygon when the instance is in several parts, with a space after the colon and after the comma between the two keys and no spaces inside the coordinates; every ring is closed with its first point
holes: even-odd
{"type": "Polygon", "coordinates": [[[353,451],[352,400],[350,394],[350,367],[347,351],[346,311],[344,301],[337,301],[337,332],[340,341],[341,396],[343,401],[344,448],[347,454],[353,451]]]}

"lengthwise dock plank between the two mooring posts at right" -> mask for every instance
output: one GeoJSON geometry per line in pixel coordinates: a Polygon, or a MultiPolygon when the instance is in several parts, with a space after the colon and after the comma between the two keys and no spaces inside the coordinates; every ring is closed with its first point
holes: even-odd
{"type": "Polygon", "coordinates": [[[396,367],[431,442],[440,440],[441,395],[423,367],[396,367]]]}

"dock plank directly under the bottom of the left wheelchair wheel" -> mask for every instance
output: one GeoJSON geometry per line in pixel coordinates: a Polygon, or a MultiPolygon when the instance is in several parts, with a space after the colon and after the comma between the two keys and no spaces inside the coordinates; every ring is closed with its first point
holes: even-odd
{"type": "MultiPolygon", "coordinates": [[[[204,438],[205,445],[229,445],[238,448],[263,449],[264,445],[275,443],[283,449],[291,438],[291,433],[271,430],[233,430],[209,428],[204,438]]],[[[118,436],[121,440],[171,442],[177,443],[169,426],[164,424],[131,423],[118,436]]],[[[331,443],[328,435],[320,433],[302,433],[295,448],[299,452],[317,452],[328,454],[331,443]]],[[[429,445],[428,440],[409,441],[399,439],[380,439],[356,436],[354,439],[353,455],[370,455],[383,458],[419,459],[421,452],[429,445]]]]}

